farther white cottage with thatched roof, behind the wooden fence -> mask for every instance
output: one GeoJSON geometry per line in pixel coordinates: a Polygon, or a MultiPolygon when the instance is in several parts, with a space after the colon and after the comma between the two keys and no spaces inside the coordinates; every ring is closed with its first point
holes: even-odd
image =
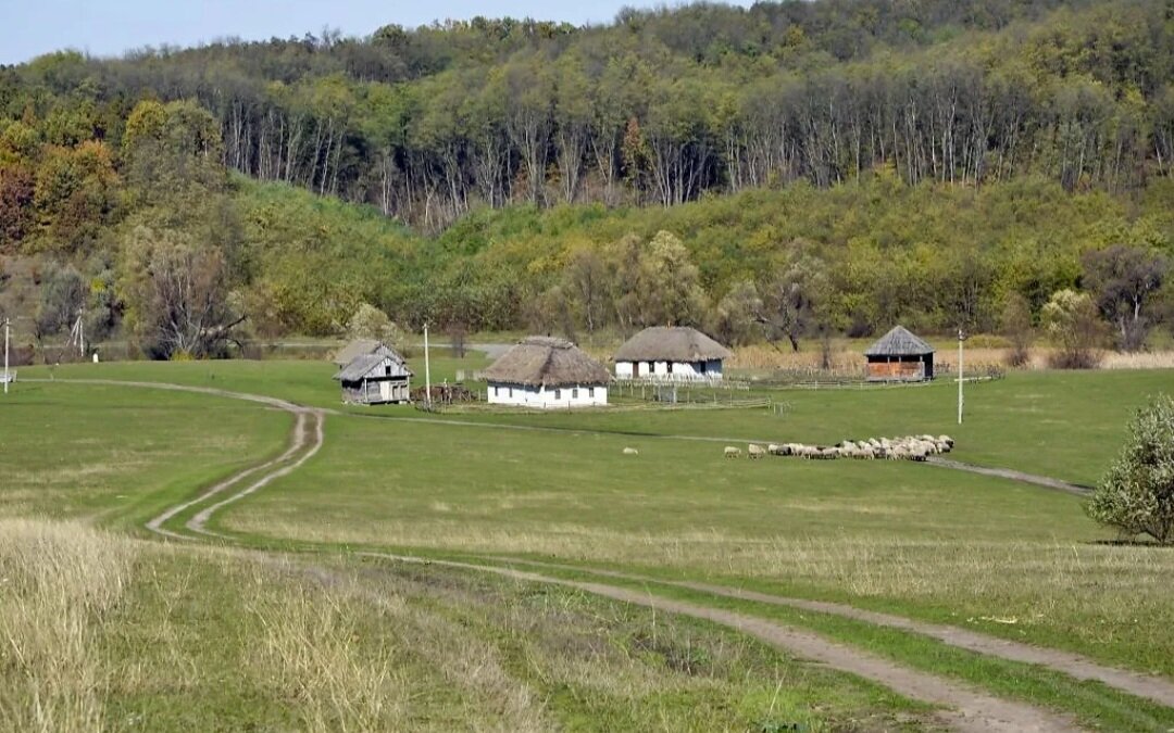
{"type": "Polygon", "coordinates": [[[696,328],[653,326],[615,352],[616,379],[717,380],[730,351],[696,328]]]}

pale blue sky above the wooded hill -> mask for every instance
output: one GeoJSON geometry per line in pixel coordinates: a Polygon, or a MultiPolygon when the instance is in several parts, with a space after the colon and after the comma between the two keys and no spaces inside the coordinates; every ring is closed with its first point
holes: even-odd
{"type": "MultiPolygon", "coordinates": [[[[749,5],[750,0],[730,0],[749,5]]],[[[676,5],[673,1],[669,5],[676,5]]],[[[194,46],[217,38],[262,40],[318,34],[367,35],[387,23],[405,27],[474,15],[535,18],[575,25],[607,22],[623,6],[652,0],[0,0],[5,33],[0,63],[20,63],[74,48],[116,56],[144,46],[194,46]]]]}

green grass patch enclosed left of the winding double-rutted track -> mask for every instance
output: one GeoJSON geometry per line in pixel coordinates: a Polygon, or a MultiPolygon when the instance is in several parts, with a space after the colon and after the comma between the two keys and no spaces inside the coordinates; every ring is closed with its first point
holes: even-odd
{"type": "Polygon", "coordinates": [[[207,395],[19,384],[0,403],[0,516],[130,527],[277,449],[289,426],[207,395]]]}

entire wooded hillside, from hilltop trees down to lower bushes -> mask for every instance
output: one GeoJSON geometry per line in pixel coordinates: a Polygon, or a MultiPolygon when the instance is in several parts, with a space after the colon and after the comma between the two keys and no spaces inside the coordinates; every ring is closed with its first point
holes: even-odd
{"type": "Polygon", "coordinates": [[[0,69],[0,308],[36,340],[83,308],[153,357],[364,305],[734,342],[1087,311],[1138,348],[1174,321],[1172,158],[1169,0],[61,52],[0,69]]]}

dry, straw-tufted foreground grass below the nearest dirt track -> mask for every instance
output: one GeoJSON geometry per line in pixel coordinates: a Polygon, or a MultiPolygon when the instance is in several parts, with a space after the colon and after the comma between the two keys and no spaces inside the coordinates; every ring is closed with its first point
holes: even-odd
{"type": "Polygon", "coordinates": [[[930,708],[576,591],[0,520],[0,729],[925,729],[930,708]]]}

